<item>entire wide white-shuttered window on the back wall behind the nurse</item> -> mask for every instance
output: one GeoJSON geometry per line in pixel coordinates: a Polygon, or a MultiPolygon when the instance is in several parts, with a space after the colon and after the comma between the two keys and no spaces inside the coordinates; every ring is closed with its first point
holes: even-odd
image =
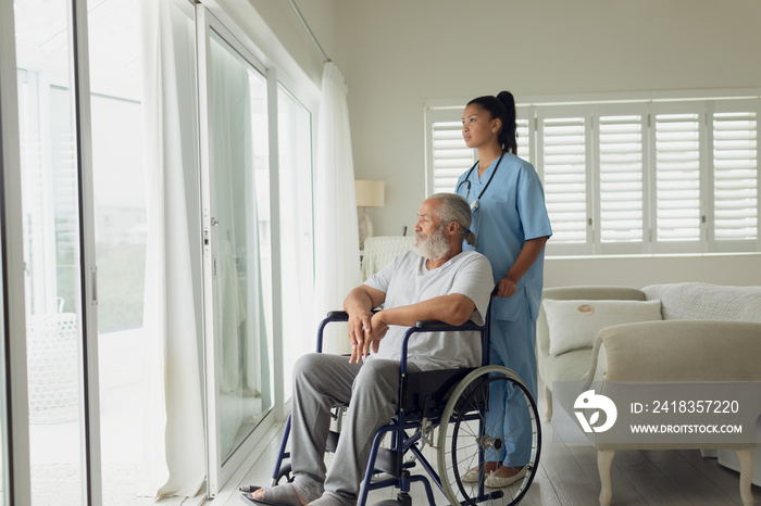
{"type": "MultiPolygon", "coordinates": [[[[758,98],[519,105],[548,254],[758,251],[760,109],[758,98]]],[[[475,162],[461,114],[426,110],[428,192],[453,191],[475,162]]]]}

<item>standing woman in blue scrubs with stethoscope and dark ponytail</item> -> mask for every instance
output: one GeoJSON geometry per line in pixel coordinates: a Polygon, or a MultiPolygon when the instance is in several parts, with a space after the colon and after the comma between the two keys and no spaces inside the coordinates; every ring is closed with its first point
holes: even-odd
{"type": "MultiPolygon", "coordinates": [[[[552,229],[539,176],[532,164],[515,155],[515,101],[509,91],[467,103],[462,136],[469,148],[478,150],[478,162],[460,176],[457,193],[471,203],[471,229],[478,238],[475,248],[466,248],[491,262],[497,286],[491,302],[490,363],[515,371],[537,399],[536,319],[541,302],[544,248],[552,229]]],[[[490,395],[491,400],[497,397],[490,395]]],[[[490,414],[508,414],[502,434],[489,435],[513,438],[504,438],[507,444],[501,452],[487,453],[486,486],[508,486],[526,472],[529,445],[509,443],[515,440],[516,428],[527,427],[511,417],[520,410],[510,409],[511,400],[520,401],[513,396],[507,406],[489,408],[490,414]]],[[[489,413],[487,426],[491,427],[489,413]]],[[[478,469],[470,470],[463,481],[478,481],[478,469]]]]}

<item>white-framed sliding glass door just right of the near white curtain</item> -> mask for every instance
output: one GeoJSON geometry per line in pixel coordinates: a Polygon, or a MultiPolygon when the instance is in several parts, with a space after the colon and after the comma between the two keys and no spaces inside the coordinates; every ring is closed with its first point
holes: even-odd
{"type": "Polygon", "coordinates": [[[199,11],[209,486],[252,448],[273,407],[267,83],[199,11]]]}

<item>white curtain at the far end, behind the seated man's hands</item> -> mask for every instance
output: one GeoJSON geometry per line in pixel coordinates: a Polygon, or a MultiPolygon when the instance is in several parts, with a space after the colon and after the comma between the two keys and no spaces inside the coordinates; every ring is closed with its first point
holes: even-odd
{"type": "MultiPolygon", "coordinates": [[[[342,309],[344,299],[362,279],[347,92],[338,67],[332,62],[325,63],[315,188],[314,301],[317,319],[324,318],[330,309],[342,309]]],[[[346,329],[334,326],[326,336],[325,349],[348,352],[346,329]]]]}

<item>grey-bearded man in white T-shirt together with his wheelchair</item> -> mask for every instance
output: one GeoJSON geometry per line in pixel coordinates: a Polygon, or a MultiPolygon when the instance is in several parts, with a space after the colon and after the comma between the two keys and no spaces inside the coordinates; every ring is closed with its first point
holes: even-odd
{"type": "MultiPolygon", "coordinates": [[[[485,364],[482,339],[486,336],[484,340],[488,346],[486,317],[494,279],[485,256],[462,249],[463,240],[475,240],[469,230],[470,206],[457,194],[438,193],[423,202],[417,217],[413,251],[399,255],[353,289],[344,302],[342,319],[349,324],[351,356],[347,359],[347,356],[314,353],[303,356],[296,365],[292,413],[282,447],[284,453],[290,430],[292,451],[288,456],[292,481],[275,484],[273,480],[273,486],[245,490],[245,502],[344,506],[354,505],[359,499],[364,504],[369,490],[390,484],[401,490],[399,501],[391,503],[410,504],[410,482],[423,480],[428,501],[435,504],[427,479],[411,477],[407,470],[411,466],[401,465],[404,452],[411,452],[421,460],[452,504],[476,504],[502,497],[506,494],[501,491],[492,494],[484,491],[483,471],[476,483],[460,479],[469,471],[473,475],[474,469],[477,472],[483,468],[489,455],[497,458],[510,451],[509,441],[488,435],[484,417],[478,414],[485,409],[487,396],[496,394],[495,380],[501,384],[501,390],[511,390],[507,395],[517,392],[526,397],[526,412],[516,419],[533,430],[523,430],[528,440],[519,443],[533,445],[534,463],[525,465],[536,464],[538,417],[534,401],[525,388],[521,388],[520,378],[497,366],[492,367],[502,370],[476,369],[485,364]],[[373,311],[379,306],[383,309],[373,311]],[[426,327],[424,322],[429,325],[426,327]],[[420,331],[424,334],[410,339],[413,329],[408,328],[415,325],[422,327],[420,331]],[[414,408],[408,406],[409,403],[400,399],[410,396],[404,393],[406,388],[410,390],[408,379],[412,381],[415,375],[436,374],[434,371],[461,371],[457,376],[459,383],[453,382],[451,375],[421,376],[416,382],[423,390],[446,391],[449,401],[440,399],[440,394],[435,399],[436,395],[428,392],[422,394],[423,401],[414,403],[414,408]],[[473,378],[462,380],[470,371],[473,372],[469,378],[473,378]],[[456,394],[458,400],[453,402],[456,394]],[[440,406],[437,408],[437,402],[447,403],[444,413],[440,406]],[[330,448],[335,450],[335,455],[328,469],[324,454],[330,446],[330,420],[335,416],[332,409],[346,405],[340,438],[330,448]],[[389,420],[394,422],[389,425],[389,420]],[[447,445],[438,450],[441,454],[438,475],[420,451],[422,442],[432,441],[428,431],[432,421],[440,423],[439,446],[447,445]],[[407,430],[415,425],[422,430],[410,437],[407,430]],[[391,466],[394,470],[388,472],[396,476],[377,485],[371,483],[371,477],[380,471],[376,456],[383,434],[389,431],[398,465],[391,466]],[[477,447],[475,453],[471,447],[477,447]]],[[[417,393],[413,392],[412,396],[415,395],[417,393]]],[[[282,458],[278,467],[280,461],[282,458]]],[[[507,494],[510,501],[515,495],[520,495],[515,502],[520,501],[531,479],[533,472],[524,478],[517,494],[507,494]]]]}

